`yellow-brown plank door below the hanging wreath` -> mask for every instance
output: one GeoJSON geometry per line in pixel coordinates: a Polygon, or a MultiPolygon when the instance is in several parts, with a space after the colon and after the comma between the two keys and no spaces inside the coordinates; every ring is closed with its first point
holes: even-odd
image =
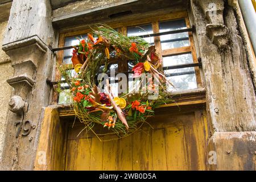
{"type": "MultiPolygon", "coordinates": [[[[68,129],[66,170],[205,170],[208,137],[205,110],[162,109],[149,125],[129,137],[97,137],[82,132],[76,122],[68,129]]],[[[106,129],[107,130],[107,129],[106,129]]]]}

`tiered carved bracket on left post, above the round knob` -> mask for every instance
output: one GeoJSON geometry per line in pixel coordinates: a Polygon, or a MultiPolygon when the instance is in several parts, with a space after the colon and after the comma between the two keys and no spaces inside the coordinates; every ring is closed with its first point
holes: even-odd
{"type": "Polygon", "coordinates": [[[35,85],[35,73],[40,64],[40,57],[47,52],[47,46],[38,38],[20,40],[18,42],[3,45],[3,51],[11,58],[14,67],[14,77],[7,82],[13,86],[15,95],[27,99],[27,94],[35,85]]]}

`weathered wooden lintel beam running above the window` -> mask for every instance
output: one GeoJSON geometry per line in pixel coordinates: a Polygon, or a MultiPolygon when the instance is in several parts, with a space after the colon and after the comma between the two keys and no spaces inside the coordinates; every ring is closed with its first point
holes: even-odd
{"type": "MultiPolygon", "coordinates": [[[[94,24],[102,23],[108,20],[112,21],[115,18],[110,19],[113,14],[118,14],[125,11],[131,11],[132,15],[144,14],[149,11],[156,11],[160,9],[172,10],[185,10],[188,7],[187,0],[160,0],[160,1],[148,1],[148,0],[129,0],[120,1],[115,3],[109,3],[102,6],[92,6],[92,9],[86,9],[86,3],[77,2],[76,4],[68,5],[66,7],[56,9],[53,11],[52,24],[56,28],[68,28],[72,26],[81,26],[82,24],[94,24]],[[146,5],[146,6],[145,6],[146,5]],[[84,9],[80,8],[83,7],[84,9]],[[79,11],[73,11],[70,13],[70,9],[77,9],[79,11]],[[142,9],[143,7],[143,9],[142,9]],[[69,13],[67,13],[69,12],[69,13]]],[[[124,17],[127,15],[123,15],[124,17]]]]}

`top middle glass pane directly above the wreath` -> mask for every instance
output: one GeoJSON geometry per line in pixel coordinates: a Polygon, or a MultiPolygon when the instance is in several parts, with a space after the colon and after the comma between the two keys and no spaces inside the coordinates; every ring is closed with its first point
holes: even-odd
{"type": "MultiPolygon", "coordinates": [[[[152,24],[142,24],[135,27],[127,27],[127,36],[139,36],[153,34],[152,24]]],[[[154,45],[154,37],[144,38],[146,42],[151,45],[154,45]]]]}

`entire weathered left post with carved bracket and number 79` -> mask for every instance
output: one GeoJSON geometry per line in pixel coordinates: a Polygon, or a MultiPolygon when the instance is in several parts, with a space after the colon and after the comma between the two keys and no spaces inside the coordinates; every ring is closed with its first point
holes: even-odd
{"type": "Polygon", "coordinates": [[[49,0],[14,0],[11,7],[2,49],[14,68],[14,76],[7,79],[14,91],[1,169],[34,168],[39,117],[42,107],[49,104],[52,89],[46,84],[53,71],[51,13],[49,0]]]}

